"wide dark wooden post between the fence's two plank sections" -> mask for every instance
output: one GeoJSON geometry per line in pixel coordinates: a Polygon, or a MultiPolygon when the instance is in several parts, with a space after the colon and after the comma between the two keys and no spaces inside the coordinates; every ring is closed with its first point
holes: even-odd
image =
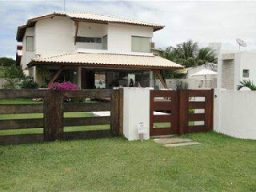
{"type": "Polygon", "coordinates": [[[43,139],[50,142],[61,139],[64,129],[63,94],[61,90],[46,90],[44,98],[43,139]]]}

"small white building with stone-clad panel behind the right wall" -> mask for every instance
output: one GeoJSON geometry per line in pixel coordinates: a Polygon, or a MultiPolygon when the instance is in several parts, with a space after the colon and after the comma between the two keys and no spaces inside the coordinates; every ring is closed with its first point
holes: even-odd
{"type": "Polygon", "coordinates": [[[250,79],[256,82],[256,53],[233,51],[218,59],[218,88],[237,90],[239,82],[250,79]]]}

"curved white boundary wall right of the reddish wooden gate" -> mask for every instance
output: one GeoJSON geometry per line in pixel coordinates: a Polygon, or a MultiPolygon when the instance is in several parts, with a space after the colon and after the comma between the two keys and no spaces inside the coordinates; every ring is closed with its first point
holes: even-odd
{"type": "Polygon", "coordinates": [[[214,130],[256,139],[256,91],[215,89],[214,96],[214,130]]]}

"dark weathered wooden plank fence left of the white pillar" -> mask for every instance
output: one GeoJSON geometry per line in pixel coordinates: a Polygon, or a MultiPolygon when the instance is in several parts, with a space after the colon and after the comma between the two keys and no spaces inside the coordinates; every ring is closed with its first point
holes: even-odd
{"type": "Polygon", "coordinates": [[[43,118],[0,120],[0,130],[43,128],[43,134],[0,136],[0,144],[102,138],[119,133],[118,90],[0,90],[2,98],[42,98],[43,104],[2,104],[0,114],[43,113],[43,118]],[[64,98],[111,98],[110,102],[63,102],[64,98]],[[64,118],[64,112],[110,111],[106,117],[64,118]],[[64,132],[64,126],[110,124],[110,130],[64,132]]]}

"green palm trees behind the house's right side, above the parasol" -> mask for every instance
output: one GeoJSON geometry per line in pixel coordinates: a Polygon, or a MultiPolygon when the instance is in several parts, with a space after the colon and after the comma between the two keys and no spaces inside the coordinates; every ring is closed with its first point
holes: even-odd
{"type": "Polygon", "coordinates": [[[167,47],[161,56],[185,67],[200,66],[206,62],[217,62],[213,50],[208,47],[198,48],[198,42],[192,40],[182,42],[176,47],[167,47]]]}

